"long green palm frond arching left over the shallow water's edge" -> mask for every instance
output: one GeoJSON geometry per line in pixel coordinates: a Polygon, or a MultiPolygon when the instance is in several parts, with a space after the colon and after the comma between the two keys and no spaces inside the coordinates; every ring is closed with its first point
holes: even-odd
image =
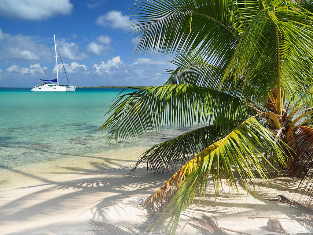
{"type": "Polygon", "coordinates": [[[121,95],[109,108],[100,128],[109,139],[123,142],[164,126],[197,126],[210,123],[216,113],[236,120],[246,112],[240,99],[192,85],[164,85],[121,95]]]}

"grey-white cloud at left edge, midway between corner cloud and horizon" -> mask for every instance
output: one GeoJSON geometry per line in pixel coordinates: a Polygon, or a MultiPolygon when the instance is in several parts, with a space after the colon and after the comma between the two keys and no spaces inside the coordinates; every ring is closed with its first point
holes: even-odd
{"type": "Polygon", "coordinates": [[[49,48],[22,34],[10,35],[0,29],[0,62],[49,60],[49,48]]]}

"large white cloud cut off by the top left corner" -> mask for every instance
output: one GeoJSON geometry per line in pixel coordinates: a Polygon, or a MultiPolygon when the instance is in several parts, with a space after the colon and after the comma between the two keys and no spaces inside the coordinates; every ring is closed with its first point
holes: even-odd
{"type": "Polygon", "coordinates": [[[0,15],[28,20],[48,19],[69,14],[73,5],[69,0],[1,0],[0,15]]]}

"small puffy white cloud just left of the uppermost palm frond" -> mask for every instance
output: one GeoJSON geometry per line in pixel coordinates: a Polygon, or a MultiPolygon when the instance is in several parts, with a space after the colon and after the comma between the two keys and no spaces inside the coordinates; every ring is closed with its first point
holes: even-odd
{"type": "Polygon", "coordinates": [[[131,19],[127,15],[123,15],[121,11],[109,11],[104,15],[100,15],[97,20],[97,24],[101,26],[109,26],[113,29],[126,29],[126,27],[130,26],[131,19]]]}

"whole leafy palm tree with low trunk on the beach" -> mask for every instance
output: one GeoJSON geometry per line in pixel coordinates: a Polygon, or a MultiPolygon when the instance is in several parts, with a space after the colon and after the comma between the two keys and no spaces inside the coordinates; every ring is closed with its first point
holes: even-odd
{"type": "Polygon", "coordinates": [[[222,177],[238,190],[233,170],[246,190],[281,167],[311,181],[311,1],[142,0],[133,9],[136,52],[173,55],[177,69],[162,86],[118,97],[101,130],[123,142],[169,125],[192,128],[149,149],[132,170],[143,162],[152,173],[180,167],[144,202],[163,212],[151,229],[170,218],[174,234],[208,180],[216,196],[222,177]]]}

